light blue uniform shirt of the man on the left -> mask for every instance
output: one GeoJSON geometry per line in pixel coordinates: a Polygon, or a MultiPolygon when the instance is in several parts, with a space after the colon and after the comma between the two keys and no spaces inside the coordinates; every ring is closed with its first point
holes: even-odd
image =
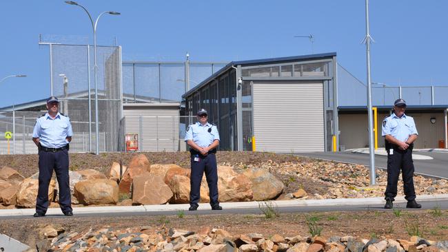
{"type": "Polygon", "coordinates": [[[61,148],[68,144],[68,136],[72,136],[72,124],[68,116],[63,116],[58,112],[56,118],[51,118],[48,113],[37,118],[33,138],[39,138],[43,147],[61,148]]]}

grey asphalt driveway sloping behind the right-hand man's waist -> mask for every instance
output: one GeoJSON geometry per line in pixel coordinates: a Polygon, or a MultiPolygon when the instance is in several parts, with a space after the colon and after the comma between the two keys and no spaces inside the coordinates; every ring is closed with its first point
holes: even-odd
{"type": "MultiPolygon", "coordinates": [[[[438,178],[448,179],[448,152],[414,151],[414,154],[431,156],[432,160],[414,159],[416,174],[422,174],[438,178]]],[[[360,165],[370,165],[370,155],[343,152],[307,152],[296,153],[298,156],[307,156],[324,160],[334,160],[339,162],[350,162],[360,165]]],[[[387,168],[387,156],[375,155],[375,167],[380,169],[387,168]]]]}

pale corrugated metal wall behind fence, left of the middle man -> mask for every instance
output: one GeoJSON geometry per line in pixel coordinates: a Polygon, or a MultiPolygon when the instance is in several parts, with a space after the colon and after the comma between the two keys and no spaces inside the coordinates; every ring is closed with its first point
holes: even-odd
{"type": "Polygon", "coordinates": [[[139,134],[139,151],[179,151],[179,105],[126,107],[125,134],[139,134]]]}

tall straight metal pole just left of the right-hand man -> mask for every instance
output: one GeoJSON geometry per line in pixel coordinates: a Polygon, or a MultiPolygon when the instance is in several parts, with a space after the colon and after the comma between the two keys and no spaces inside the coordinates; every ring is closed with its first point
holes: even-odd
{"type": "Polygon", "coordinates": [[[367,116],[369,117],[369,153],[370,153],[370,185],[376,184],[374,132],[371,107],[371,79],[370,79],[370,34],[369,34],[369,0],[365,0],[365,48],[367,61],[367,116]]]}

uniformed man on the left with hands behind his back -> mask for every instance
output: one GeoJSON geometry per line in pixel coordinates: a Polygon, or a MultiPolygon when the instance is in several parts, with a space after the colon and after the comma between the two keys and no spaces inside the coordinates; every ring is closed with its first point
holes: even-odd
{"type": "Polygon", "coordinates": [[[72,216],[72,199],[68,177],[68,149],[72,140],[72,125],[68,116],[58,112],[59,100],[51,96],[47,99],[48,113],[37,118],[32,140],[39,149],[39,190],[34,217],[45,216],[47,212],[48,186],[53,169],[59,183],[59,204],[65,216],[72,216]]]}

